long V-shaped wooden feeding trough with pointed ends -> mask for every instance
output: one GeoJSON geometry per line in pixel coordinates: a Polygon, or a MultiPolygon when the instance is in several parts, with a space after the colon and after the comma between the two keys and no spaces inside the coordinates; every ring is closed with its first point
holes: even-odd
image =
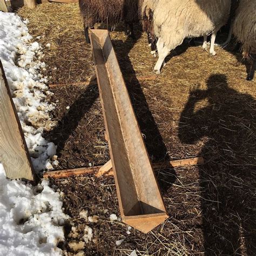
{"type": "Polygon", "coordinates": [[[144,233],[168,218],[107,30],[91,46],[122,220],[144,233]]]}

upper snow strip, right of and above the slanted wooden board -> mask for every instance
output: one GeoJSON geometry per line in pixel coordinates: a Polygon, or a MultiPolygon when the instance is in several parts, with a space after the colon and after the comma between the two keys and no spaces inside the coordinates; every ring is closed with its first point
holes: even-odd
{"type": "Polygon", "coordinates": [[[48,80],[40,73],[45,69],[45,63],[39,60],[42,48],[37,42],[30,43],[31,39],[19,16],[0,12],[0,59],[33,166],[39,172],[49,169],[50,158],[56,154],[56,146],[43,138],[44,129],[55,126],[49,115],[55,106],[46,102],[51,92],[45,85],[48,80]]]}

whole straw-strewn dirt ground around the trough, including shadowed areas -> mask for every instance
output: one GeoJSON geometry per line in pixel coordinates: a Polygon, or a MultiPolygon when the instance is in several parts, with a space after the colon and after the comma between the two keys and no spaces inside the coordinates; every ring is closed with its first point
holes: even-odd
{"type": "MultiPolygon", "coordinates": [[[[44,61],[50,84],[60,84],[51,87],[50,99],[58,125],[46,136],[58,146],[56,170],[106,163],[97,85],[79,85],[94,67],[78,5],[41,4],[33,11],[22,8],[19,15],[29,19],[39,43],[51,43],[44,61]]],[[[256,93],[255,79],[245,79],[248,63],[233,51],[234,42],[217,47],[214,57],[201,46],[183,43],[167,57],[156,80],[139,82],[136,76],[152,75],[157,60],[146,35],[137,26],[136,40],[126,38],[120,25],[110,36],[151,160],[203,156],[205,164],[156,172],[170,218],[148,234],[134,229],[127,234],[122,221],[110,221],[112,213],[119,217],[113,178],[52,180],[64,193],[71,217],[68,243],[83,241],[87,225],[93,238],[85,255],[130,255],[133,250],[138,255],[254,255],[256,93]],[[98,222],[85,222],[82,210],[97,215],[98,222]],[[80,231],[76,238],[71,226],[80,231]],[[125,240],[117,246],[120,239],[125,240]]],[[[59,246],[77,253],[68,244],[59,246]]]]}

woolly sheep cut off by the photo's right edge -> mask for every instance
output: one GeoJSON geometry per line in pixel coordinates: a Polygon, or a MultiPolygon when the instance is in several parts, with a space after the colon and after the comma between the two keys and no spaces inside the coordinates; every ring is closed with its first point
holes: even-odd
{"type": "Polygon", "coordinates": [[[243,55],[253,60],[247,80],[252,80],[256,68],[256,0],[240,0],[235,13],[233,34],[242,43],[243,55]]]}

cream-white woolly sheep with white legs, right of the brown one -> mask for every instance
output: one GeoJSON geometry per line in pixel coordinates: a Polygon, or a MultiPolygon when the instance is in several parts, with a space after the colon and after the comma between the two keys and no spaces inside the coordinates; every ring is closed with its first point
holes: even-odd
{"type": "Polygon", "coordinates": [[[186,37],[204,36],[203,48],[206,49],[207,35],[212,33],[210,53],[215,55],[215,37],[227,22],[230,7],[231,0],[145,0],[142,8],[143,22],[150,23],[148,27],[151,31],[149,29],[147,32],[158,38],[159,58],[154,70],[160,73],[162,64],[165,65],[165,57],[182,44],[186,37]]]}

